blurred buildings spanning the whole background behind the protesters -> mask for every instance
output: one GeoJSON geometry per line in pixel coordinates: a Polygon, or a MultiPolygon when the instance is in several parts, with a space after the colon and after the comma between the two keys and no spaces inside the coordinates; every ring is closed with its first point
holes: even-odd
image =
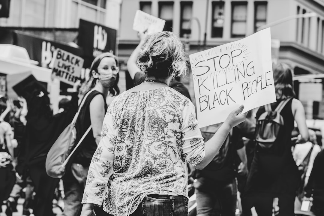
{"type": "MultiPolygon", "coordinates": [[[[0,43],[12,43],[14,30],[83,49],[80,19],[117,30],[121,68],[137,46],[133,30],[137,9],[166,20],[165,30],[179,34],[188,55],[271,27],[274,63],[289,63],[295,91],[307,118],[324,118],[324,1],[322,0],[0,0],[10,2],[0,18],[0,43]],[[299,18],[298,18],[299,17],[299,18]]],[[[4,8],[4,7],[3,7],[4,8]]],[[[2,9],[1,9],[2,10],[2,9]]],[[[30,54],[30,53],[29,53],[30,54]]],[[[34,59],[33,59],[34,60],[34,59]]],[[[127,73],[126,73],[127,74],[127,73]]],[[[126,74],[121,73],[121,83],[126,74]]],[[[184,81],[193,96],[190,75],[184,81]]],[[[126,87],[124,87],[125,89],[126,87]]]]}

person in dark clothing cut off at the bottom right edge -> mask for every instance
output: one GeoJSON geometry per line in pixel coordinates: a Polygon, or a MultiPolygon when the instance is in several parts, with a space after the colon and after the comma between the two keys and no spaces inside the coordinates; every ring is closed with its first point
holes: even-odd
{"type": "Polygon", "coordinates": [[[314,160],[313,169],[310,173],[307,186],[305,187],[306,197],[313,198],[311,211],[317,215],[323,215],[324,212],[324,150],[319,152],[314,160]]]}

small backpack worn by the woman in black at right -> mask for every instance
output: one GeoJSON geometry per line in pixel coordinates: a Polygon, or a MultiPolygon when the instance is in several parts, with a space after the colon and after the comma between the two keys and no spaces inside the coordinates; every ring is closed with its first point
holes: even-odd
{"type": "Polygon", "coordinates": [[[284,127],[284,118],[280,112],[290,99],[281,101],[274,111],[270,104],[264,106],[265,112],[260,115],[255,129],[255,141],[262,149],[270,149],[276,143],[279,132],[284,127]]]}

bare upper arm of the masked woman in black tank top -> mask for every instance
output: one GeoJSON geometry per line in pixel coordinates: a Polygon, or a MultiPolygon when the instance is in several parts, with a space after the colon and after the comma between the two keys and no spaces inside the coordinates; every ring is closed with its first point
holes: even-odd
{"type": "Polygon", "coordinates": [[[102,95],[96,95],[90,102],[90,121],[93,137],[97,145],[100,141],[103,119],[105,118],[105,101],[102,95]]]}

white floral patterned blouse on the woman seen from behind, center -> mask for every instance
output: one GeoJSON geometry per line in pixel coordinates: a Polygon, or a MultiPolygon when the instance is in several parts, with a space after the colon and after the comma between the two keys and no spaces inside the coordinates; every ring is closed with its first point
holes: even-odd
{"type": "Polygon", "coordinates": [[[133,213],[148,194],[188,198],[186,161],[205,156],[191,101],[169,87],[117,96],[107,110],[82,203],[133,213]]]}

